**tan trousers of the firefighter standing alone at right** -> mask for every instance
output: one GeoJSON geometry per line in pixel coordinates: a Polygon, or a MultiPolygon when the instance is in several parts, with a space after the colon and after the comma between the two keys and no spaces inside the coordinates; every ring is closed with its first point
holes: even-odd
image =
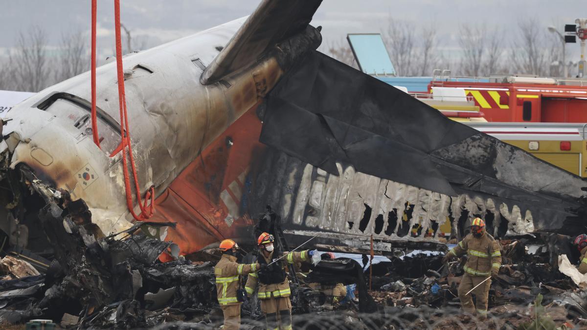
{"type": "Polygon", "coordinates": [[[476,289],[471,291],[470,294],[467,292],[470,289],[473,289],[475,285],[480,284],[485,280],[485,276],[473,276],[465,272],[463,278],[461,279],[461,284],[458,285],[458,298],[461,299],[461,306],[465,312],[475,314],[479,314],[482,318],[487,317],[487,301],[489,298],[489,288],[491,287],[491,280],[485,281],[485,283],[479,285],[476,289]],[[477,307],[473,304],[473,297],[475,295],[475,299],[477,301],[477,307]]]}

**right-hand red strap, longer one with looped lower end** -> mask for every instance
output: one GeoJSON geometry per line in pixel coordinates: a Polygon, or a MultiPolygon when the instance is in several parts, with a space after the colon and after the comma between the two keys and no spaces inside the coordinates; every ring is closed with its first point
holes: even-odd
{"type": "Polygon", "coordinates": [[[126,97],[124,96],[124,72],[122,68],[122,41],[120,38],[120,0],[114,0],[114,32],[116,36],[116,69],[118,78],[118,96],[120,107],[120,151],[122,151],[122,163],[124,173],[124,191],[126,193],[126,204],[130,213],[137,221],[144,221],[150,218],[154,213],[155,188],[151,187],[145,194],[144,204],[140,197],[139,180],[137,179],[137,170],[134,165],[133,149],[130,143],[129,117],[126,111],[126,97]],[[137,192],[137,204],[141,209],[141,214],[134,213],[133,193],[130,186],[129,169],[126,159],[126,149],[129,150],[130,167],[133,173],[134,189],[137,192]],[[151,201],[147,206],[147,201],[151,201]]]}

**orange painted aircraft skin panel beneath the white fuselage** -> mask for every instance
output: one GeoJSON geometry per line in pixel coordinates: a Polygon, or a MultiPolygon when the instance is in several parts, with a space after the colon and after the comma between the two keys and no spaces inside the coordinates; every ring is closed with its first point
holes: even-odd
{"type": "Polygon", "coordinates": [[[183,254],[224,238],[249,238],[249,171],[262,156],[257,106],[217,137],[156,199],[150,221],[175,222],[166,240],[183,254]]]}

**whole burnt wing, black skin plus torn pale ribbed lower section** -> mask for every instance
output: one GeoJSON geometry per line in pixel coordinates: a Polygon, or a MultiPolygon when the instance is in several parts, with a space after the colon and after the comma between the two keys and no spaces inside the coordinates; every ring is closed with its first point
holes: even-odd
{"type": "MultiPolygon", "coordinates": [[[[505,218],[505,228],[512,234],[571,233],[585,221],[573,218],[582,206],[579,197],[585,195],[581,178],[453,122],[400,90],[319,52],[306,56],[269,93],[261,142],[330,176],[352,173],[360,178],[353,179],[348,193],[340,187],[346,199],[338,210],[348,217],[348,225],[339,227],[340,231],[380,234],[366,228],[375,229],[370,224],[373,213],[375,219],[379,215],[385,219],[385,211],[389,214],[389,204],[376,201],[382,196],[379,183],[384,179],[406,185],[406,193],[397,190],[402,198],[394,205],[399,206],[396,231],[402,223],[401,204],[406,202],[410,203],[410,210],[405,208],[411,212],[409,227],[419,224],[421,233],[431,227],[431,221],[443,221],[449,209],[454,219],[460,218],[461,208],[469,217],[490,212],[494,227],[505,218]],[[354,171],[347,172],[349,167],[354,171]],[[461,207],[451,206],[449,197],[461,207]]],[[[324,181],[320,178],[325,176],[313,173],[312,182],[303,181],[307,186],[303,188],[309,189],[309,209],[305,210],[309,210],[305,223],[309,227],[326,225],[328,221],[318,222],[319,214],[328,214],[332,205],[316,206],[324,181]]],[[[306,196],[301,192],[296,223],[306,196]]],[[[392,198],[396,197],[397,193],[392,198]]]]}

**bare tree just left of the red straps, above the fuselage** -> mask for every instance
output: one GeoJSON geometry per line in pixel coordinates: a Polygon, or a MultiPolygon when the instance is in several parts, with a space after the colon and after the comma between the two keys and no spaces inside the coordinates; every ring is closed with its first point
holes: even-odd
{"type": "Polygon", "coordinates": [[[55,80],[61,82],[85,72],[89,67],[86,41],[82,31],[62,33],[55,80]]]}

